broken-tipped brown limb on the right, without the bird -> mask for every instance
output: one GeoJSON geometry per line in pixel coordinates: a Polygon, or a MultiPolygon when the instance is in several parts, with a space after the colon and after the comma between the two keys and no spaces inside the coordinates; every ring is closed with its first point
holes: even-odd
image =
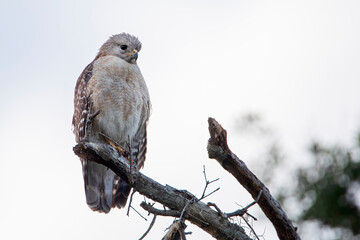
{"type": "Polygon", "coordinates": [[[274,225],[280,239],[300,239],[296,228],[292,225],[280,203],[270,194],[269,189],[246,167],[228,147],[227,132],[213,118],[209,118],[209,132],[211,138],[208,141],[209,158],[216,159],[218,163],[256,199],[260,191],[262,196],[258,205],[274,225]]]}

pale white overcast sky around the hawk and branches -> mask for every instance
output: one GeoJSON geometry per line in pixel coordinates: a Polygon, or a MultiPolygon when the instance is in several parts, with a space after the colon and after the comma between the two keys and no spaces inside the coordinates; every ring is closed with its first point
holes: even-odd
{"type": "MultiPolygon", "coordinates": [[[[252,199],[207,158],[207,118],[249,165],[260,146],[234,126],[250,111],[276,129],[284,168],[304,161],[311,139],[350,144],[360,129],[359,12],[355,0],[0,0],[0,239],[132,240],[148,228],[151,217],[134,212],[92,212],[72,152],[75,82],[110,35],[143,42],[138,65],[153,106],[143,172],[199,196],[206,165],[221,187],[207,201],[230,212],[252,199]]],[[[161,239],[171,222],[158,217],[147,239],[161,239]]],[[[269,222],[254,227],[277,239],[269,222]]],[[[188,239],[212,239],[187,230],[188,239]]]]}

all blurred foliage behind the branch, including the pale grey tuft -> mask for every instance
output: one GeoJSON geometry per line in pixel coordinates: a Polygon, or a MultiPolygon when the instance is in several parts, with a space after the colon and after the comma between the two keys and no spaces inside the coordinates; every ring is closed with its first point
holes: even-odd
{"type": "Polygon", "coordinates": [[[289,170],[284,166],[291,159],[287,159],[276,130],[264,122],[260,114],[240,116],[235,127],[247,141],[249,136],[255,137],[262,152],[257,151],[259,156],[254,157],[252,169],[276,199],[289,207],[285,210],[294,213],[293,220],[297,219],[300,231],[306,232],[306,223],[321,223],[316,225],[317,231],[310,234],[312,239],[359,239],[360,134],[352,148],[312,143],[311,164],[289,170]],[[289,179],[286,184],[281,178],[284,175],[289,179]],[[294,206],[297,211],[292,209],[294,206]]]}

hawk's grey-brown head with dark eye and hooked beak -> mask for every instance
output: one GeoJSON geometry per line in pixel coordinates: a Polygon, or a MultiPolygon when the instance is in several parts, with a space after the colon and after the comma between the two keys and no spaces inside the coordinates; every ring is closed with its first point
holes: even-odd
{"type": "Polygon", "coordinates": [[[111,36],[100,48],[98,57],[117,56],[129,63],[136,63],[138,52],[141,50],[139,39],[128,33],[111,36]]]}

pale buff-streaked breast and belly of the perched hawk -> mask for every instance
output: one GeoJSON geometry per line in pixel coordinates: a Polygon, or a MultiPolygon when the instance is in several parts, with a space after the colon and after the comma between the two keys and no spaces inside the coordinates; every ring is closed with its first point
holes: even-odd
{"type": "Polygon", "coordinates": [[[99,115],[99,132],[119,144],[136,134],[149,94],[140,69],[118,57],[102,57],[94,63],[88,93],[99,115]]]}

